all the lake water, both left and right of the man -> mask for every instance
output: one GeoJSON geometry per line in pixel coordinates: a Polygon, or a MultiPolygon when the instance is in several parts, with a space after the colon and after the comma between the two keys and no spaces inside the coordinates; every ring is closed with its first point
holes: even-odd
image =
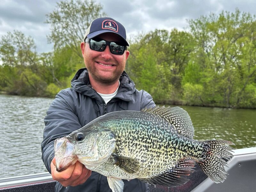
{"type": "MultiPolygon", "coordinates": [[[[0,95],[0,178],[46,172],[41,160],[44,116],[53,99],[0,95]]],[[[223,139],[256,147],[256,109],[180,106],[196,140],[223,139]]]]}

